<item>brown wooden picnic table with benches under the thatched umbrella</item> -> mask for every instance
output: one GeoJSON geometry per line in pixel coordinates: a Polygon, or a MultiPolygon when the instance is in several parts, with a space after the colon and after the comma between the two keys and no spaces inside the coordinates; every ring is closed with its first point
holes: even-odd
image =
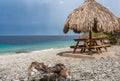
{"type": "Polygon", "coordinates": [[[102,53],[101,49],[104,48],[107,51],[107,47],[110,47],[110,44],[104,43],[105,38],[91,38],[91,39],[74,39],[76,42],[75,46],[70,46],[70,48],[73,48],[73,53],[76,52],[76,49],[81,49],[81,52],[85,52],[86,50],[91,53],[93,50],[95,50],[98,53],[102,53]],[[79,44],[80,42],[83,42],[83,44],[79,44]]]}

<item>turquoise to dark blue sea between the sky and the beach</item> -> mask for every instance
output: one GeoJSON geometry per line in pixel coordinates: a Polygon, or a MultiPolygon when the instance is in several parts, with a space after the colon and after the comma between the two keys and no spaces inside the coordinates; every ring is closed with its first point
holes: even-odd
{"type": "Polygon", "coordinates": [[[66,48],[79,36],[0,36],[0,54],[66,48]]]}

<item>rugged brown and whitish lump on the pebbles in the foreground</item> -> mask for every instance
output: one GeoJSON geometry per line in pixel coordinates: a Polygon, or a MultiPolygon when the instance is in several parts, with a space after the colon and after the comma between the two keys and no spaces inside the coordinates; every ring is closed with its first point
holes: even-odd
{"type": "Polygon", "coordinates": [[[32,62],[28,68],[28,81],[66,81],[68,76],[67,68],[64,64],[56,64],[48,67],[44,63],[32,62]]]}

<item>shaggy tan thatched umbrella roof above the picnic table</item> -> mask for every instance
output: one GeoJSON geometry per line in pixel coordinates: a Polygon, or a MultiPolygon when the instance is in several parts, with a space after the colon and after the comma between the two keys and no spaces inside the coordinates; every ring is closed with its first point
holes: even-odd
{"type": "Polygon", "coordinates": [[[119,30],[118,18],[107,8],[95,0],[85,0],[77,9],[68,16],[64,33],[69,29],[75,33],[88,32],[111,32],[119,30]]]}

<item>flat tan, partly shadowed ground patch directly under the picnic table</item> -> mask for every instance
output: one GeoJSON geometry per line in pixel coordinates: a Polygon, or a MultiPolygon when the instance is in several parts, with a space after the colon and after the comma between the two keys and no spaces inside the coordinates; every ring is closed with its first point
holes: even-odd
{"type": "Polygon", "coordinates": [[[62,57],[71,57],[71,58],[100,59],[101,57],[108,56],[109,52],[102,51],[102,53],[98,53],[96,51],[93,51],[92,54],[89,54],[88,51],[84,53],[80,51],[76,51],[75,53],[73,53],[73,51],[64,51],[57,53],[57,55],[62,57]]]}

